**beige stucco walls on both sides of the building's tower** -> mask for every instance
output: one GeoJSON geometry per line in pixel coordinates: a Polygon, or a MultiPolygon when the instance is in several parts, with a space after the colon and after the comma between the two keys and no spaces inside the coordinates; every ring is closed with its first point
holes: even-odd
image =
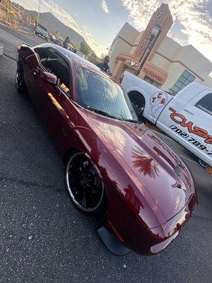
{"type": "MultiPolygon", "coordinates": [[[[136,46],[132,47],[132,45],[138,45],[142,34],[143,32],[139,33],[129,23],[124,24],[115,37],[116,41],[109,52],[110,69],[112,71],[117,64],[115,59],[119,54],[134,54],[136,46]],[[118,37],[122,37],[125,41],[118,37]]],[[[179,45],[178,42],[166,36],[151,59],[151,63],[167,71],[167,81],[161,87],[165,91],[174,86],[185,69],[196,77],[194,81],[212,87],[212,78],[208,76],[212,71],[212,63],[192,45],[179,45]],[[204,79],[204,81],[199,77],[204,79]]]]}

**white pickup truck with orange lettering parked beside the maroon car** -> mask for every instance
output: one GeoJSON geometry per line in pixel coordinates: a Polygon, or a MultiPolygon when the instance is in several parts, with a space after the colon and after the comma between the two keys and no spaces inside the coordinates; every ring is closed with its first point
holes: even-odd
{"type": "Polygon", "coordinates": [[[212,167],[212,88],[190,83],[172,96],[128,71],[120,82],[146,120],[212,167]]]}

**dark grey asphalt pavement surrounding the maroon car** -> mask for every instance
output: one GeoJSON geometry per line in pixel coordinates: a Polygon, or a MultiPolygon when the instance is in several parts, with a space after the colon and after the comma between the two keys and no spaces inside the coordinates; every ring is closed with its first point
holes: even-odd
{"type": "MultiPolygon", "coordinates": [[[[0,25],[8,56],[27,40],[43,41],[0,25]]],[[[95,233],[97,220],[69,201],[64,164],[30,99],[17,93],[15,73],[16,62],[1,56],[0,282],[211,282],[212,177],[194,156],[159,134],[191,169],[199,207],[163,253],[114,256],[95,233]]]]}

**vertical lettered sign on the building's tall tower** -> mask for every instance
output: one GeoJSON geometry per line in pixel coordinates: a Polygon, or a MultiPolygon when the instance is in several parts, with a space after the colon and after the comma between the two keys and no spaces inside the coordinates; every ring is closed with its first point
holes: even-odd
{"type": "Polygon", "coordinates": [[[139,45],[135,52],[136,57],[139,57],[139,59],[141,59],[141,57],[143,56],[143,53],[146,50],[146,47],[148,46],[148,43],[151,37],[151,33],[153,32],[154,25],[156,23],[159,23],[160,19],[163,18],[164,11],[165,11],[165,4],[161,4],[161,6],[157,9],[157,11],[153,13],[151,21],[148,23],[147,28],[144,31],[141,37],[141,40],[139,42],[139,45]]]}

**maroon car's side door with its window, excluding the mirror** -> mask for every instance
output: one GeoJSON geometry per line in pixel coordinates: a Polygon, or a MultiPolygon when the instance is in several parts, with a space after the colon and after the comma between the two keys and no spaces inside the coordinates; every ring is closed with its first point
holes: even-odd
{"type": "MultiPolygon", "coordinates": [[[[35,50],[36,51],[36,50],[35,50]]],[[[73,78],[71,62],[61,52],[54,50],[47,59],[41,60],[45,71],[57,76],[58,83],[46,83],[42,90],[42,109],[49,130],[62,153],[77,140],[73,127],[83,126],[83,109],[73,103],[73,78]]]]}

